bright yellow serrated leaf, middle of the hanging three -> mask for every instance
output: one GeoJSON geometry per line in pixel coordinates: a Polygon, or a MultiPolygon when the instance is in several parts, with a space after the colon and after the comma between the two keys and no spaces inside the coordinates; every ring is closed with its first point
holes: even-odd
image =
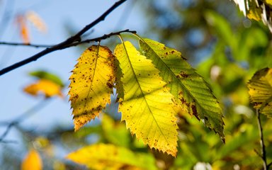
{"type": "Polygon", "coordinates": [[[115,47],[123,71],[122,120],[127,128],[151,148],[176,156],[177,131],[174,103],[159,70],[140,55],[130,42],[115,47]]]}

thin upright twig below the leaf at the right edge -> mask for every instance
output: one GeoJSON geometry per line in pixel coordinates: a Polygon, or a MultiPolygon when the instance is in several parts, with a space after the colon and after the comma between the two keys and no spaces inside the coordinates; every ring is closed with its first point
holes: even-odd
{"type": "Polygon", "coordinates": [[[260,113],[259,109],[256,109],[256,115],[258,119],[258,128],[259,128],[259,134],[260,134],[260,146],[261,146],[261,159],[263,160],[263,169],[266,170],[268,169],[268,165],[266,163],[266,146],[264,145],[263,142],[263,128],[261,127],[261,118],[260,118],[260,113]]]}

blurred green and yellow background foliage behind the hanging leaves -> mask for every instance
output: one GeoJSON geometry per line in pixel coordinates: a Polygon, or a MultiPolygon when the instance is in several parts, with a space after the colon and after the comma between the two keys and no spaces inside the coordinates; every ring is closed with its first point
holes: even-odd
{"type": "MultiPolygon", "coordinates": [[[[178,155],[175,159],[153,150],[150,157],[156,159],[158,169],[262,169],[256,114],[249,103],[246,83],[257,70],[272,67],[272,34],[268,28],[245,18],[228,0],[137,0],[133,6],[140,6],[146,16],[142,18],[147,23],[142,36],[181,51],[210,83],[225,115],[224,145],[203,123],[181,113],[178,155]]],[[[73,31],[67,27],[67,32],[73,31]]],[[[89,123],[78,132],[62,127],[41,134],[16,128],[26,147],[38,149],[44,169],[85,169],[57,157],[57,152],[63,149],[72,152],[91,143],[103,142],[133,152],[151,153],[131,137],[116,110],[105,112],[100,121],[89,123]]],[[[270,163],[272,121],[264,115],[261,121],[270,163]]],[[[21,160],[13,152],[7,147],[1,153],[1,168],[18,167],[21,160]]]]}

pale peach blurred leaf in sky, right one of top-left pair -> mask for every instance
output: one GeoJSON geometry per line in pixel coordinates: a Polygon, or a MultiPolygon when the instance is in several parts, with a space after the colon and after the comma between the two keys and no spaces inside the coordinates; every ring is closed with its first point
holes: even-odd
{"type": "Polygon", "coordinates": [[[42,33],[46,33],[47,32],[47,26],[45,24],[45,21],[43,21],[42,18],[40,18],[40,16],[38,15],[38,13],[35,13],[34,11],[28,11],[26,13],[26,19],[28,21],[30,21],[31,23],[33,23],[33,25],[35,26],[35,28],[37,28],[38,30],[40,30],[40,32],[42,32],[42,33]]]}

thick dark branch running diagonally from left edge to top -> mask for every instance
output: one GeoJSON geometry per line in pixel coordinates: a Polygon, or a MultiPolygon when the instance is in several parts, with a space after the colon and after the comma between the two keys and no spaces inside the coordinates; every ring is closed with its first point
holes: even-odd
{"type": "Polygon", "coordinates": [[[104,12],[101,16],[99,16],[95,21],[90,23],[89,25],[85,26],[82,30],[80,30],[77,34],[73,35],[72,37],[68,38],[67,40],[64,40],[63,42],[60,42],[57,45],[54,45],[52,47],[47,47],[45,50],[42,50],[41,52],[38,52],[36,55],[33,55],[32,57],[27,58],[26,60],[22,60],[21,62],[17,62],[15,64],[12,64],[9,67],[6,67],[4,69],[0,70],[0,76],[3,74],[6,74],[7,72],[10,72],[13,69],[17,69],[18,67],[21,67],[25,64],[28,64],[29,62],[33,62],[35,60],[38,60],[40,57],[47,55],[50,52],[56,51],[56,50],[63,50],[67,47],[68,45],[72,45],[75,42],[80,42],[81,41],[81,35],[86,33],[89,29],[92,27],[96,26],[97,23],[103,21],[106,16],[108,16],[109,13],[111,13],[115,8],[120,6],[120,4],[123,4],[127,0],[120,0],[115,2],[111,8],[108,8],[106,12],[104,12]]]}

